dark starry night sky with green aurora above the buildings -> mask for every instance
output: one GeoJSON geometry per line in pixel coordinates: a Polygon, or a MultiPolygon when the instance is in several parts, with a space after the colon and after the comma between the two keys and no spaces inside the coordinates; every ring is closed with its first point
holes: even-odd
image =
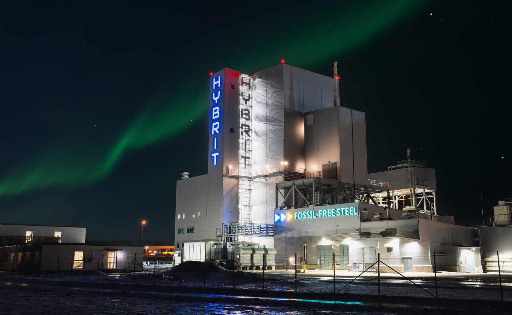
{"type": "Polygon", "coordinates": [[[368,170],[436,169],[439,215],[512,198],[507,2],[9,2],[0,10],[0,222],[173,244],[176,180],[207,172],[209,72],[332,76],[368,170]]]}

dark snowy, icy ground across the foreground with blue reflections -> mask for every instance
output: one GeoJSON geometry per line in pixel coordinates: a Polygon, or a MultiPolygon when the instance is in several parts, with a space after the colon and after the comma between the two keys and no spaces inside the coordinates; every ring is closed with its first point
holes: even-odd
{"type": "MultiPolygon", "coordinates": [[[[122,276],[97,271],[71,274],[16,276],[0,274],[0,314],[302,314],[320,312],[358,314],[472,314],[509,313],[510,302],[478,301],[488,295],[499,298],[495,275],[441,275],[439,297],[464,298],[457,301],[433,299],[428,293],[397,275],[381,275],[383,296],[377,294],[375,275],[362,278],[343,292],[333,292],[332,270],[297,275],[294,270],[234,272],[214,264],[192,262],[157,274],[135,273],[122,276]],[[330,273],[330,276],[329,276],[330,273]],[[206,275],[206,287],[203,287],[206,275]],[[181,280],[180,280],[181,276],[181,280]],[[449,279],[452,279],[449,281],[449,279]],[[257,290],[254,290],[257,289],[257,290]],[[325,292],[325,293],[316,293],[325,292]],[[329,293],[331,292],[331,293],[329,293]],[[449,292],[450,294],[448,294],[449,292]],[[348,293],[348,294],[347,294],[348,293]],[[250,298],[253,297],[253,298],[250,298]],[[336,301],[335,303],[333,301],[336,301]],[[345,301],[345,302],[343,302],[345,301]],[[349,302],[347,302],[349,301],[349,302]],[[352,302],[350,302],[352,301],[352,302]],[[507,309],[508,307],[508,309],[507,309]],[[507,310],[507,311],[504,311],[507,310]]],[[[356,273],[355,276],[357,276],[356,273]]],[[[336,290],[355,277],[336,274],[336,290]]],[[[430,275],[432,276],[432,274],[430,275]]],[[[411,275],[431,292],[429,275],[411,275]]],[[[508,279],[507,275],[504,276],[508,279]]],[[[507,280],[508,281],[508,280],[507,280]]],[[[504,282],[505,296],[511,291],[504,282]]]]}

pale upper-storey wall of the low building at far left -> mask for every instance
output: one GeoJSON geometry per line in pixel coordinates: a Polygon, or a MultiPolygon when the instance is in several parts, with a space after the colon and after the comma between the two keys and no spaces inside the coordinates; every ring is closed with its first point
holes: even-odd
{"type": "Polygon", "coordinates": [[[62,243],[85,243],[86,228],[79,226],[47,226],[0,224],[0,236],[25,236],[27,230],[34,231],[33,236],[54,237],[55,232],[62,232],[62,243]]]}

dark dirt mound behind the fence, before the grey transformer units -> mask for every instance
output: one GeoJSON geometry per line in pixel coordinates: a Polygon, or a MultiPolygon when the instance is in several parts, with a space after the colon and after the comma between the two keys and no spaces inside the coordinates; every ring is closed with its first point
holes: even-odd
{"type": "MultiPolygon", "coordinates": [[[[179,281],[181,277],[182,281],[204,282],[204,270],[204,262],[185,261],[176,267],[161,272],[160,274],[169,277],[174,281],[179,281]]],[[[263,281],[263,277],[246,271],[235,271],[233,274],[233,270],[227,270],[214,263],[206,263],[206,283],[232,285],[233,281],[235,285],[261,283],[263,281]]]]}

